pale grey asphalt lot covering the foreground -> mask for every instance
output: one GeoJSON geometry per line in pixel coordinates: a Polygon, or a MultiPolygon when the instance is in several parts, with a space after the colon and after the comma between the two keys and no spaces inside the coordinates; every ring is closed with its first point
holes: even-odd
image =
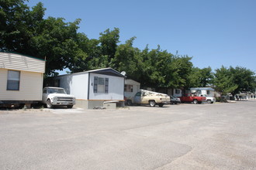
{"type": "Polygon", "coordinates": [[[256,169],[256,101],[0,110],[0,169],[256,169]]]}

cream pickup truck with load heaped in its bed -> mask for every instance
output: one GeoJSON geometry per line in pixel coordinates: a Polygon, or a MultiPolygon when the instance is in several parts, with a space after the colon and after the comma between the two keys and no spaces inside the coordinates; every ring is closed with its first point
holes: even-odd
{"type": "Polygon", "coordinates": [[[158,105],[163,107],[164,104],[170,103],[170,97],[165,93],[157,93],[149,90],[140,90],[135,97],[126,100],[128,105],[131,104],[150,104],[151,107],[158,105]]]}

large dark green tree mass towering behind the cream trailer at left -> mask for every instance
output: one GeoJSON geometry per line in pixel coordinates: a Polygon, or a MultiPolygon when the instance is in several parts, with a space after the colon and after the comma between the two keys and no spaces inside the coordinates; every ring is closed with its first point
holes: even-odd
{"type": "Polygon", "coordinates": [[[23,0],[0,2],[0,50],[44,59],[47,75],[54,70],[72,67],[74,60],[85,59],[77,33],[80,19],[43,19],[45,8],[39,2],[30,10],[23,0]]]}

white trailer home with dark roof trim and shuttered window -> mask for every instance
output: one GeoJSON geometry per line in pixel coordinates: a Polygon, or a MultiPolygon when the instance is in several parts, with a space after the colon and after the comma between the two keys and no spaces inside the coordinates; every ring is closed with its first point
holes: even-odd
{"type": "Polygon", "coordinates": [[[123,102],[124,79],[126,76],[112,68],[89,70],[61,75],[54,78],[56,87],[64,88],[76,97],[76,107],[116,107],[123,102]]]}

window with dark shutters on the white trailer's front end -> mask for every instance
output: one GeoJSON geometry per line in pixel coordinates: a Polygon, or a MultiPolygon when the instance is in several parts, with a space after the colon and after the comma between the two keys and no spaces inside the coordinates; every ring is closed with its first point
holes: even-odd
{"type": "Polygon", "coordinates": [[[95,76],[93,92],[94,93],[109,93],[109,78],[95,76]]]}

